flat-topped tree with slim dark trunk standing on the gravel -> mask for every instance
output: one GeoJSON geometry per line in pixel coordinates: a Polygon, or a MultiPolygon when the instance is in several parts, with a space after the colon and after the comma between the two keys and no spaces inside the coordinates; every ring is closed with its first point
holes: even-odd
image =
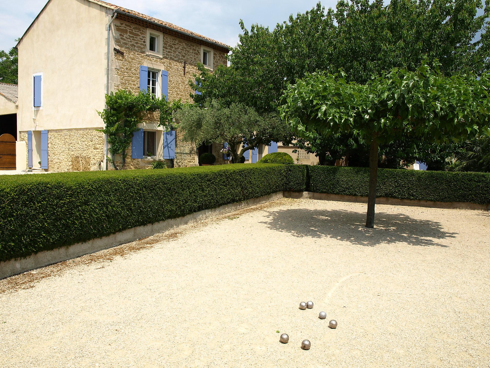
{"type": "Polygon", "coordinates": [[[315,73],[285,92],[282,117],[297,135],[347,133],[369,142],[366,227],[374,227],[380,144],[407,137],[449,143],[482,131],[490,134],[490,76],[444,77],[440,66],[422,63],[415,72],[395,68],[366,83],[315,73]]]}

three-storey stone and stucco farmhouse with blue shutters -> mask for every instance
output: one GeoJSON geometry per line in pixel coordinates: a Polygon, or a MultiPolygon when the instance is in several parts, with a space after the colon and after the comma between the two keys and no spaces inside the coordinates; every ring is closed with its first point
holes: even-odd
{"type": "MultiPolygon", "coordinates": [[[[189,100],[197,63],[227,63],[229,46],[100,0],[49,0],[20,39],[18,139],[30,168],[52,172],[111,168],[97,111],[117,89],[150,89],[189,100]]],[[[222,159],[222,147],[205,147],[222,159]]],[[[135,133],[126,168],[154,160],[198,164],[198,147],[147,120],[135,133]]],[[[22,168],[17,168],[22,169],[22,168]]]]}

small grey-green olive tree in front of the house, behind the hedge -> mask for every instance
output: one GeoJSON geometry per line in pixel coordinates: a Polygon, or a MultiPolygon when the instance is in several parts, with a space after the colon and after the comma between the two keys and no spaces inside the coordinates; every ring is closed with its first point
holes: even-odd
{"type": "Polygon", "coordinates": [[[291,130],[276,113],[258,113],[254,108],[217,101],[204,105],[185,105],[175,114],[177,126],[184,131],[182,139],[200,145],[227,142],[233,162],[260,144],[291,140],[291,130]],[[240,145],[242,148],[239,150],[240,145]]]}

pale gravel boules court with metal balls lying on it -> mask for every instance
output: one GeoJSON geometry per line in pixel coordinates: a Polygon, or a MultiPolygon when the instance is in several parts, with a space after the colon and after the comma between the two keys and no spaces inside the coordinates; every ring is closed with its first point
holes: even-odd
{"type": "Polygon", "coordinates": [[[283,199],[0,280],[0,367],[490,367],[490,213],[365,210],[283,199]]]}

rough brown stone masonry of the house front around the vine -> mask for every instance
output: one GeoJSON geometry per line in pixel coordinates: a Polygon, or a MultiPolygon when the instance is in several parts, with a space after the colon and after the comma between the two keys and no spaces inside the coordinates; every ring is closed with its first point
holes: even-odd
{"type": "MultiPolygon", "coordinates": [[[[163,35],[163,57],[146,53],[147,29],[136,24],[117,20],[114,22],[114,38],[116,47],[121,50],[115,54],[115,89],[127,89],[133,93],[139,92],[140,65],[147,65],[155,69],[161,68],[169,72],[169,100],[190,100],[190,93],[194,89],[189,86],[189,79],[197,74],[197,63],[200,61],[201,46],[197,43],[183,40],[168,34],[163,35]],[[184,75],[184,61],[186,61],[186,74],[184,75]]],[[[226,65],[226,54],[214,51],[214,66],[226,65]]],[[[175,140],[175,167],[194,166],[197,164],[196,147],[193,143],[180,139],[182,133],[176,132],[175,140]]],[[[218,155],[217,162],[218,162],[218,155]]],[[[222,160],[222,159],[221,159],[222,160]]],[[[117,159],[116,162],[120,162],[117,159]]],[[[129,149],[126,158],[126,168],[146,168],[151,166],[151,160],[131,158],[129,149]]],[[[112,165],[110,165],[112,166],[112,165]]]]}

